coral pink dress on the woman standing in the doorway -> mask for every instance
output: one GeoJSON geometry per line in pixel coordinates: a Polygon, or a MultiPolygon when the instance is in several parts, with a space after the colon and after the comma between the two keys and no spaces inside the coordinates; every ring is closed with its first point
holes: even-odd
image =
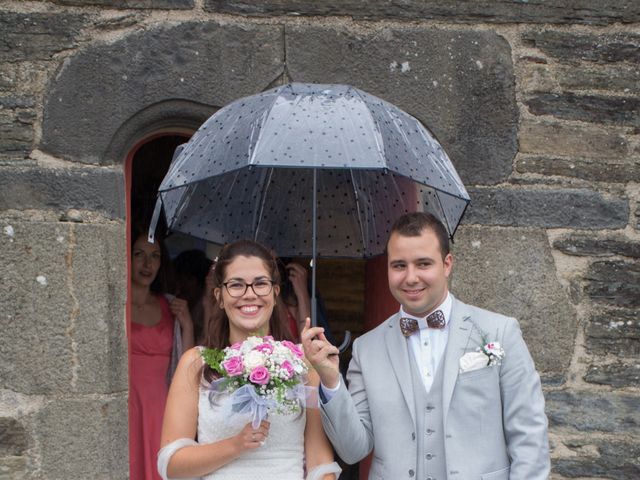
{"type": "Polygon", "coordinates": [[[167,369],[173,345],[173,316],[159,296],[160,321],[153,327],[131,322],[129,370],[129,463],[131,480],[160,480],[157,455],[167,401],[167,369]]]}

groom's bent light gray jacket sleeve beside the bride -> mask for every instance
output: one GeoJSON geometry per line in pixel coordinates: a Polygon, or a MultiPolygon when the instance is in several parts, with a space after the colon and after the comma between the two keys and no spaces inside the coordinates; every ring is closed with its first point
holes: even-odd
{"type": "Polygon", "coordinates": [[[338,391],[326,403],[320,404],[327,437],[340,458],[348,464],[359,462],[373,450],[373,430],[360,369],[358,343],[358,340],[353,343],[347,373],[349,390],[341,378],[338,391]]]}

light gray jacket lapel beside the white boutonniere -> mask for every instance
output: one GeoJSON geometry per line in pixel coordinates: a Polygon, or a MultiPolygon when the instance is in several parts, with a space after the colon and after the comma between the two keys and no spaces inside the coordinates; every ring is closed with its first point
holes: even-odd
{"type": "MultiPolygon", "coordinates": [[[[451,318],[449,319],[449,339],[444,355],[444,371],[442,378],[442,407],[443,420],[446,422],[453,389],[458,379],[458,369],[460,357],[464,354],[464,349],[468,346],[469,335],[471,335],[472,325],[468,321],[469,313],[465,304],[453,297],[451,306],[451,318]]],[[[445,423],[446,424],[446,423],[445,423]]]]}

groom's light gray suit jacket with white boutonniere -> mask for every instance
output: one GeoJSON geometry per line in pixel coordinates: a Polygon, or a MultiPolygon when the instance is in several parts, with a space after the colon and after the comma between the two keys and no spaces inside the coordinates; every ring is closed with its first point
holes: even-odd
{"type": "MultiPolygon", "coordinates": [[[[353,344],[347,379],[321,404],[325,431],[340,457],[355,463],[374,451],[369,479],[412,480],[426,452],[417,451],[414,361],[389,317],[353,344]]],[[[518,322],[453,298],[449,338],[440,362],[444,452],[449,480],[546,480],[549,446],[544,398],[518,322]],[[505,350],[499,366],[459,373],[459,360],[481,335],[505,350]]],[[[420,479],[423,480],[423,479],[420,479]]]]}

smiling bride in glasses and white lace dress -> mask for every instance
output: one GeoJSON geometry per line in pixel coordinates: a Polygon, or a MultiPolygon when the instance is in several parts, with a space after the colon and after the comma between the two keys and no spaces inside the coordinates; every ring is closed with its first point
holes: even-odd
{"type": "MultiPolygon", "coordinates": [[[[256,334],[288,339],[274,309],[278,267],[266,248],[251,241],[229,244],[214,273],[217,305],[205,347],[221,349],[256,334]]],[[[302,480],[305,470],[307,480],[337,479],[340,467],[333,462],[317,408],[271,412],[254,430],[250,414],[231,411],[228,395],[210,401],[207,386],[213,379],[201,347],[182,356],[169,389],[158,454],[165,480],[302,480]]],[[[318,383],[310,369],[309,385],[318,383]]]]}

